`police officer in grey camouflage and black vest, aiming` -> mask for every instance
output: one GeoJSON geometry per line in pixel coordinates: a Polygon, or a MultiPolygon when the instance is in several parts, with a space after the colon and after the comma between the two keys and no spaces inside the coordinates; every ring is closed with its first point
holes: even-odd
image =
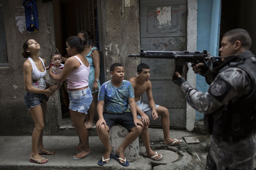
{"type": "MultiPolygon", "coordinates": [[[[251,38],[244,29],[233,29],[221,40],[221,61],[217,68],[193,70],[211,83],[204,94],[179,73],[175,84],[186,94],[189,105],[204,113],[204,126],[211,133],[211,148],[205,170],[252,170],[256,155],[256,58],[249,49],[251,38]],[[212,70],[218,71],[214,77],[212,70]]],[[[204,67],[207,68],[207,67],[204,67]]]]}

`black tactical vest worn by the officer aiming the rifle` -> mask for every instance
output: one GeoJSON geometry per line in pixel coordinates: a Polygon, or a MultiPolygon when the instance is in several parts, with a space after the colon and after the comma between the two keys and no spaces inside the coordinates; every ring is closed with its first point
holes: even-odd
{"type": "Polygon", "coordinates": [[[229,101],[214,113],[204,114],[204,126],[216,136],[249,136],[256,127],[256,58],[246,51],[221,65],[220,72],[231,67],[241,68],[249,75],[252,90],[236,102],[229,101]]]}

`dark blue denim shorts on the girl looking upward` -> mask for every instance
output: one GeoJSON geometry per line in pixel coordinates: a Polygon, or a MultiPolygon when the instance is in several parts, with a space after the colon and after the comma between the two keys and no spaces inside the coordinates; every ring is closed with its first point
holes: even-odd
{"type": "Polygon", "coordinates": [[[34,108],[35,106],[41,105],[41,103],[43,103],[44,96],[45,94],[30,93],[26,91],[24,96],[24,102],[27,109],[29,110],[31,108],[34,108]]]}

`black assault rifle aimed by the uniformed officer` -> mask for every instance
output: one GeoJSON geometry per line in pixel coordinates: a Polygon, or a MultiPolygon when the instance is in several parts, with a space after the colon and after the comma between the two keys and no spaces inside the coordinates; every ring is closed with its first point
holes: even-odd
{"type": "MultiPolygon", "coordinates": [[[[203,52],[195,51],[144,51],[143,49],[140,50],[140,54],[129,54],[128,57],[142,57],[142,58],[158,58],[158,59],[175,59],[175,72],[179,72],[180,75],[183,71],[183,66],[188,65],[196,65],[199,62],[205,63],[206,68],[208,68],[207,61],[211,59],[213,65],[218,64],[221,61],[221,57],[212,57],[207,50],[203,52]],[[189,65],[189,63],[191,63],[189,65]]],[[[177,79],[177,76],[174,72],[172,79],[177,79]]]]}

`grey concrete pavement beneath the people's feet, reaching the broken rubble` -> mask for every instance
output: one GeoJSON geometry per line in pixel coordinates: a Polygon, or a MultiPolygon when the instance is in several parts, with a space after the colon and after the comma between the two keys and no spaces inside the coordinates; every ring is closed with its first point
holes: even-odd
{"type": "MultiPolygon", "coordinates": [[[[74,130],[73,130],[74,131],[74,130]]],[[[188,153],[188,147],[195,147],[195,145],[188,145],[181,143],[177,147],[170,147],[163,144],[163,130],[153,129],[151,133],[151,148],[158,153],[163,154],[163,159],[159,161],[152,161],[148,159],[145,154],[145,147],[140,142],[140,157],[126,159],[130,162],[126,170],[152,170],[157,169],[169,169],[174,164],[170,164],[175,161],[175,166],[187,166],[191,157],[188,153]],[[152,137],[153,136],[153,137],[152,137]],[[158,141],[158,142],[157,142],[158,141]],[[144,149],[143,149],[144,148],[144,149]],[[181,151],[183,150],[183,151],[181,151]],[[175,158],[175,154],[179,155],[179,158],[175,158]],[[173,160],[171,160],[171,158],[173,160]],[[168,163],[169,162],[169,163],[168,163]]],[[[170,130],[170,135],[177,139],[182,139],[183,136],[192,136],[194,133],[185,131],[170,130]]],[[[201,140],[201,138],[199,138],[201,140]]],[[[49,159],[46,164],[35,164],[29,162],[31,153],[31,136],[0,136],[0,170],[121,170],[124,169],[116,160],[111,161],[104,165],[99,166],[97,162],[102,158],[104,154],[104,147],[98,136],[90,136],[89,144],[92,150],[92,155],[81,160],[73,160],[73,156],[76,155],[75,149],[79,143],[78,136],[44,136],[43,137],[44,148],[53,150],[55,155],[44,155],[44,158],[49,159]]],[[[203,142],[203,140],[201,140],[203,142]]],[[[198,146],[200,144],[197,144],[198,146]]],[[[190,149],[191,153],[198,153],[198,150],[190,149]]],[[[199,154],[199,153],[198,153],[199,154]]],[[[203,154],[203,153],[202,153],[203,154]]],[[[206,157],[207,153],[204,153],[206,157]]],[[[200,155],[199,155],[200,156],[200,155]]],[[[201,157],[201,156],[200,156],[201,157]]],[[[192,161],[193,162],[193,161],[192,161]]],[[[200,162],[198,162],[200,163],[200,162]]],[[[201,164],[201,163],[200,163],[201,164]]],[[[193,165],[194,166],[194,165],[193,165]]],[[[158,170],[157,169],[157,170],[158,170]]],[[[177,168],[176,168],[177,169],[177,168]]],[[[195,168],[191,168],[195,169],[195,168]]]]}

